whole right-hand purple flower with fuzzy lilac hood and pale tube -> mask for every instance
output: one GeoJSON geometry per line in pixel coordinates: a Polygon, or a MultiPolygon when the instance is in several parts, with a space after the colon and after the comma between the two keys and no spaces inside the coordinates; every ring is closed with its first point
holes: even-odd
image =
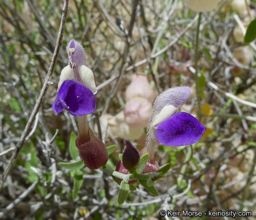
{"type": "Polygon", "coordinates": [[[166,146],[194,144],[203,136],[204,127],[196,118],[185,112],[178,112],[190,97],[188,86],[174,87],[160,94],[154,103],[148,126],[146,150],[149,159],[161,143],[166,146]]]}

